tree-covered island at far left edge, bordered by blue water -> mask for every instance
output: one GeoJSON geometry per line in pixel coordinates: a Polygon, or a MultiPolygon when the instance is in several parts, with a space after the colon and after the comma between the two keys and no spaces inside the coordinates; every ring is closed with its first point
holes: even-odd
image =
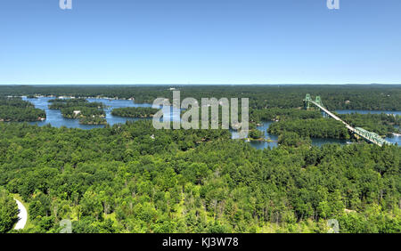
{"type": "Polygon", "coordinates": [[[0,121],[37,121],[45,119],[43,109],[36,109],[29,101],[0,96],[0,121]]]}

